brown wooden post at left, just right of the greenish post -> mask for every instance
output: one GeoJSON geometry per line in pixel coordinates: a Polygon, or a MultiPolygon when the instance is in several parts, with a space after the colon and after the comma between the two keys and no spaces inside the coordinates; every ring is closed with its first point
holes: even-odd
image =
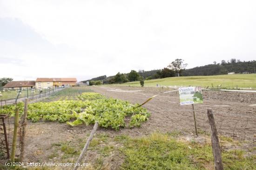
{"type": "Polygon", "coordinates": [[[26,126],[27,126],[27,105],[28,105],[28,98],[25,99],[23,121],[21,124],[22,133],[21,133],[21,141],[20,141],[20,162],[22,162],[24,158],[26,126]]]}

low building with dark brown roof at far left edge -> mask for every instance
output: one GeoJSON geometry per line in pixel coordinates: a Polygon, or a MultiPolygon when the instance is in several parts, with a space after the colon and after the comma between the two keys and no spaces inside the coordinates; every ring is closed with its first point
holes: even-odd
{"type": "Polygon", "coordinates": [[[12,89],[27,89],[27,88],[34,88],[35,81],[11,81],[8,82],[3,88],[7,90],[12,89]]]}

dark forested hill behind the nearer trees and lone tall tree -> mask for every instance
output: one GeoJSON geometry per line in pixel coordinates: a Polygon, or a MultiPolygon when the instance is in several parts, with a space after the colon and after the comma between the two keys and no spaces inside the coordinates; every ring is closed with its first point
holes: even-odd
{"type": "MultiPolygon", "coordinates": [[[[235,72],[235,73],[243,73],[243,72],[249,72],[249,73],[255,73],[256,69],[256,61],[248,61],[248,62],[241,62],[240,60],[237,60],[232,58],[230,62],[226,62],[222,60],[221,63],[215,63],[215,64],[208,64],[200,67],[195,67],[192,69],[185,69],[182,71],[180,76],[215,76],[215,75],[226,75],[229,72],[235,72]]],[[[139,70],[138,73],[144,77],[150,77],[150,79],[160,78],[158,75],[163,69],[154,69],[150,71],[144,71],[139,70]]],[[[118,70],[117,70],[118,72],[118,70]]],[[[125,73],[125,75],[128,76],[128,73],[125,73]]],[[[85,80],[82,82],[87,82],[91,80],[101,80],[104,84],[113,83],[112,78],[114,76],[99,76],[92,78],[90,80],[85,80]]]]}

